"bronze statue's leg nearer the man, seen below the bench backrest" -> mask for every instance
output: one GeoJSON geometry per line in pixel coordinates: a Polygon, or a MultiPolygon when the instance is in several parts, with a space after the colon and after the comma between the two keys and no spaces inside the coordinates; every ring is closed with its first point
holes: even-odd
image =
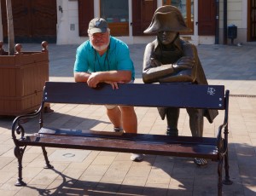
{"type": "Polygon", "coordinates": [[[166,135],[177,136],[177,121],[179,117],[179,108],[166,108],[167,131],[166,135]]]}

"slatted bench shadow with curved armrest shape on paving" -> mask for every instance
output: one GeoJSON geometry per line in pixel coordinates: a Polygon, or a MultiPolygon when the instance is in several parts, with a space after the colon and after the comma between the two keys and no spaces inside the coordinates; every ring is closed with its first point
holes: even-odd
{"type": "MultiPolygon", "coordinates": [[[[163,187],[143,187],[135,185],[124,185],[119,183],[107,182],[90,182],[74,179],[70,176],[62,174],[60,171],[53,170],[61,176],[60,185],[51,188],[38,188],[27,185],[31,189],[38,191],[39,195],[167,195],[182,194],[183,190],[174,190],[170,193],[170,189],[163,187]]],[[[185,192],[185,191],[184,191],[185,192]]]]}

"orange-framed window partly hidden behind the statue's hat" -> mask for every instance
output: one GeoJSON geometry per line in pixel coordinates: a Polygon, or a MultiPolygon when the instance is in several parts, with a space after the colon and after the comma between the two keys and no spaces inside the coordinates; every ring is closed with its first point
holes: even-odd
{"type": "Polygon", "coordinates": [[[162,3],[177,7],[183,14],[186,25],[194,31],[194,0],[163,0],[162,3]]]}

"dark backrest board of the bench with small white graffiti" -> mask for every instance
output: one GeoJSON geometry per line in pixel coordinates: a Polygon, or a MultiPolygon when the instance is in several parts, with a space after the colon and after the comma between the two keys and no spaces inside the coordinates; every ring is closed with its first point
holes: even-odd
{"type": "Polygon", "coordinates": [[[223,110],[223,97],[223,85],[119,84],[119,89],[113,90],[109,84],[94,89],[85,83],[46,82],[44,88],[44,101],[51,103],[223,110]]]}

